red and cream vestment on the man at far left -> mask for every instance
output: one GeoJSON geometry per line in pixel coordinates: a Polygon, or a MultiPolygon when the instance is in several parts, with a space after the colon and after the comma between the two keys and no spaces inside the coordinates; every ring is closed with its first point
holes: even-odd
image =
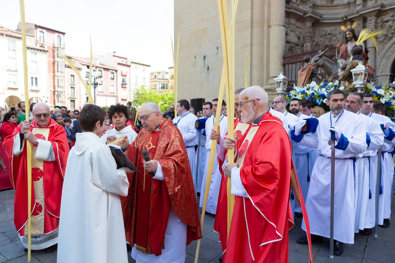
{"type": "MultiPolygon", "coordinates": [[[[26,143],[30,142],[25,140],[21,155],[13,156],[15,136],[19,136],[21,129],[18,126],[12,135],[7,136],[3,147],[10,161],[11,183],[15,189],[15,228],[24,236],[27,235],[27,228],[24,228],[27,223],[26,143]]],[[[47,127],[38,127],[36,121],[32,121],[30,131],[37,138],[51,142],[56,159],[54,162],[34,159],[37,145],[32,144],[32,235],[36,235],[50,233],[58,227],[64,171],[70,149],[66,131],[53,119],[49,120],[47,127]]]]}

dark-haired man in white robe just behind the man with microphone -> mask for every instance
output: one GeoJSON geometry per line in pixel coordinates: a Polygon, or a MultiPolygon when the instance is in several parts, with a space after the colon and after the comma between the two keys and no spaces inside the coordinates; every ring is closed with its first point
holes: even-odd
{"type": "MultiPolygon", "coordinates": [[[[173,119],[174,125],[180,130],[182,138],[184,139],[186,151],[188,152],[189,164],[191,166],[192,174],[196,172],[196,151],[195,145],[198,144],[198,130],[196,130],[196,120],[198,119],[193,113],[189,111],[189,102],[182,99],[177,102],[176,110],[177,117],[173,119]]],[[[196,176],[194,179],[194,186],[197,188],[196,176]]]]}

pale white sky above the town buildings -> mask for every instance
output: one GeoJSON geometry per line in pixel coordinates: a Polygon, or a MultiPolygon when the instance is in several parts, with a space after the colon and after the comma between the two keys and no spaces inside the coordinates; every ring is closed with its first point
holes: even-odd
{"type": "MultiPolygon", "coordinates": [[[[16,29],[18,0],[0,0],[0,26],[16,29]]],[[[116,51],[129,60],[151,65],[150,71],[173,66],[173,0],[25,0],[25,21],[66,32],[66,54],[90,56],[116,51]]]]}

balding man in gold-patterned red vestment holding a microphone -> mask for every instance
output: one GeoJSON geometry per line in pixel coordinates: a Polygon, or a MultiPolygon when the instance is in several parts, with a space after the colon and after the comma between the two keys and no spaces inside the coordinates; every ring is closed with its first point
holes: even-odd
{"type": "Polygon", "coordinates": [[[136,262],[184,262],[186,245],[202,237],[184,140],[155,103],[143,104],[138,118],[143,129],[134,142],[119,143],[139,169],[128,174],[128,196],[121,196],[126,241],[136,262]]]}

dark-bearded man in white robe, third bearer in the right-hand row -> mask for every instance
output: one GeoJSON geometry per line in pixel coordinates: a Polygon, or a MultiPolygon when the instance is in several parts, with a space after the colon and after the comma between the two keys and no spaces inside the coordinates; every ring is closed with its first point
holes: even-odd
{"type": "MultiPolygon", "coordinates": [[[[387,116],[372,112],[372,108],[374,107],[372,94],[363,93],[362,96],[363,103],[361,106],[361,113],[373,118],[378,123],[382,124],[384,128],[387,128],[384,130],[384,145],[382,146],[382,170],[378,202],[378,225],[387,228],[389,227],[389,217],[391,215],[391,188],[394,173],[391,151],[393,151],[393,145],[395,143],[395,124],[387,116]]],[[[381,110],[380,112],[384,114],[384,110],[381,110]]],[[[377,171],[377,156],[374,158],[374,163],[377,171]]]]}

